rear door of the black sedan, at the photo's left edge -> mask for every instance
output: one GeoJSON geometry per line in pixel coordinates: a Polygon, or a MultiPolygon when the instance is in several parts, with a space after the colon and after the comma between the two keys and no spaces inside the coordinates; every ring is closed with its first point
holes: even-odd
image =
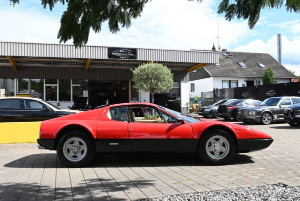
{"type": "Polygon", "coordinates": [[[22,103],[18,98],[0,100],[0,122],[24,121],[22,103]]]}

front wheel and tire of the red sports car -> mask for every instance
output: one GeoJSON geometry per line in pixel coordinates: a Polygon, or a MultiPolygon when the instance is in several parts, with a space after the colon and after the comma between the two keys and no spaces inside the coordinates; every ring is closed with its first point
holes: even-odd
{"type": "Polygon", "coordinates": [[[203,161],[211,165],[223,165],[233,158],[235,148],[235,142],[229,133],[224,130],[213,130],[200,139],[198,154],[203,161]],[[212,144],[213,140],[215,144],[212,144]],[[219,140],[222,142],[218,143],[219,140]]]}

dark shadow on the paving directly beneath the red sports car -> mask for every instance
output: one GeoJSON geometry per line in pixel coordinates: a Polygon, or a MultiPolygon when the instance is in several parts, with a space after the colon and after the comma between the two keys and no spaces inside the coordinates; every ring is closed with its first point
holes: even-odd
{"type": "MultiPolygon", "coordinates": [[[[235,154],[227,165],[253,163],[246,154],[235,154]]],[[[13,168],[57,168],[66,167],[56,153],[28,155],[3,165],[13,168]],[[41,158],[41,161],[38,159],[41,158]]],[[[88,167],[155,167],[155,166],[209,166],[196,154],[121,154],[96,155],[88,167]]]]}

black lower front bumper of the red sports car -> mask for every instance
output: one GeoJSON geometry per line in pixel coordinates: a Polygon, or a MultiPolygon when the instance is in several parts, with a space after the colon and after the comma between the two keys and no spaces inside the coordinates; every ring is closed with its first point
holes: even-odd
{"type": "Polygon", "coordinates": [[[273,142],[272,138],[238,139],[236,153],[247,153],[267,148],[273,142]]]}

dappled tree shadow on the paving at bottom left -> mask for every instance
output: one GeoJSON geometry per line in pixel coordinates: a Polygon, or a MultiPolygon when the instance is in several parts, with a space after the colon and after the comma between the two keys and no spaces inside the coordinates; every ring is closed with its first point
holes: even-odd
{"type": "MultiPolygon", "coordinates": [[[[70,180],[63,181],[55,187],[37,182],[3,182],[0,183],[1,200],[128,200],[125,197],[114,197],[114,192],[132,191],[136,186],[141,188],[153,185],[152,180],[136,179],[116,182],[113,178],[101,178],[100,174],[92,179],[77,181],[71,186],[70,180]],[[109,192],[109,196],[107,194],[109,192]]],[[[146,198],[146,197],[140,197],[146,198]]]]}

